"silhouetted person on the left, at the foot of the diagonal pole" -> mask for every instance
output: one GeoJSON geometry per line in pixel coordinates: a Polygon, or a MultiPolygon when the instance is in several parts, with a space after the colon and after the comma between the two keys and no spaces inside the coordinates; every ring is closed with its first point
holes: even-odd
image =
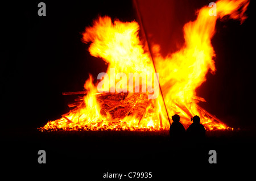
{"type": "Polygon", "coordinates": [[[183,142],[185,137],[185,128],[180,123],[180,116],[174,115],[172,116],[172,120],[174,121],[170,127],[170,138],[171,141],[175,143],[183,142]]]}

